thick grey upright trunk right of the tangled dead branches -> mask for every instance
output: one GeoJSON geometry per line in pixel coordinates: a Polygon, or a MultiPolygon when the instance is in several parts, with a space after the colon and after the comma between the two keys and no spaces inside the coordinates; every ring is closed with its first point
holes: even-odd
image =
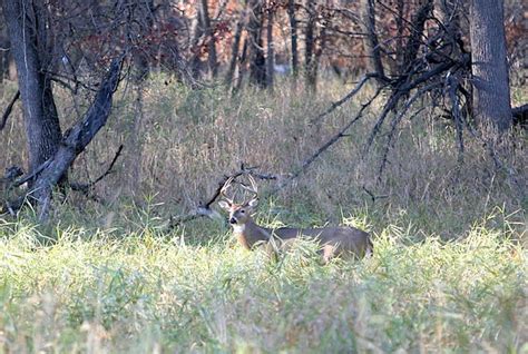
{"type": "Polygon", "coordinates": [[[472,0],[470,37],[475,119],[505,131],[512,118],[502,1],[472,0]]]}

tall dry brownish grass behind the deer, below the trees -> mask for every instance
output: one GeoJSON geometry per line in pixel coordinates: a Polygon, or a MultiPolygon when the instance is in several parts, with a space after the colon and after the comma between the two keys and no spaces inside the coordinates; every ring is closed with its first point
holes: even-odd
{"type": "MultiPolygon", "coordinates": [[[[113,210],[119,209],[127,197],[140,206],[148,197],[150,204],[163,204],[158,207],[162,215],[184,214],[211,196],[219,177],[237,169],[241,163],[260,166],[263,171],[292,173],[353,116],[358,102],[312,126],[310,120],[343,94],[342,87],[329,83],[314,98],[287,83],[274,94],[244,91],[229,96],[222,87],[190,91],[163,82],[166,78],[159,77],[145,85],[143,115],[138,112],[137,91],[125,87],[117,95],[109,125],[75,165],[75,178],[94,178],[105,169],[118,145],[125,144],[118,173],[97,188],[104,198],[117,200],[113,210]]],[[[12,90],[4,89],[3,100],[12,90]]],[[[74,100],[66,92],[59,92],[59,97],[67,127],[76,112],[84,111],[86,101],[74,100]]],[[[293,223],[336,223],[343,215],[368,214],[374,229],[401,219],[443,238],[457,236],[496,207],[507,213],[522,210],[518,220],[525,220],[526,134],[516,135],[514,142],[501,149],[500,159],[516,171],[518,183],[514,184],[508,174],[495,167],[481,141],[470,136],[466,137],[465,163],[458,164],[452,127],[424,110],[412,124],[403,124],[378,181],[383,134],[371,154],[363,153],[374,119],[375,109],[321,156],[307,174],[267,200],[275,206],[272,214],[281,213],[281,219],[293,223]],[[387,197],[372,203],[363,187],[387,197]],[[402,214],[408,217],[402,218],[402,214]]],[[[0,135],[2,169],[26,160],[21,121],[18,109],[0,135]]],[[[267,187],[262,184],[261,189],[267,187]]],[[[108,213],[98,205],[84,207],[108,213]]]]}

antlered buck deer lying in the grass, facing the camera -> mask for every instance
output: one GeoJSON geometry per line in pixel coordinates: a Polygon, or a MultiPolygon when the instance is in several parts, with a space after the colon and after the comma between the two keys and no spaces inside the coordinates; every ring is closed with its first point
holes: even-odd
{"type": "Polygon", "coordinates": [[[227,196],[234,177],[228,178],[221,189],[222,200],[218,201],[221,208],[228,213],[228,223],[233,227],[233,234],[239,245],[252,250],[258,245],[267,244],[272,246],[270,249],[274,252],[277,248],[285,248],[295,239],[301,237],[312,239],[321,246],[323,262],[326,264],[336,256],[352,256],[354,258],[363,258],[371,256],[373,245],[370,235],[355,227],[320,227],[320,228],[295,228],[278,227],[268,228],[260,226],[253,219],[253,215],[258,205],[258,189],[254,178],[247,175],[251,187],[239,183],[241,186],[252,194],[247,201],[237,204],[234,198],[227,196]],[[280,247],[275,247],[280,245],[280,247]]]}

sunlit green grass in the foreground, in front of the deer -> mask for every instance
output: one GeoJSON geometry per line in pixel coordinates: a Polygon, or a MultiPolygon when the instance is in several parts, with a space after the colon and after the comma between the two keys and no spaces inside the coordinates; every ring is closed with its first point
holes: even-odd
{"type": "Polygon", "coordinates": [[[272,263],[222,227],[189,245],[154,222],[3,223],[0,351],[526,353],[527,254],[487,224],[450,243],[389,225],[372,258],[322,266],[310,247],[272,263]]]}

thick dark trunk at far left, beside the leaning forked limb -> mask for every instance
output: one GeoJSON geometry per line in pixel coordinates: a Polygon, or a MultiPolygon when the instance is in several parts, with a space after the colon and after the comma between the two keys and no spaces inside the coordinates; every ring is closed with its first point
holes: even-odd
{"type": "Polygon", "coordinates": [[[46,72],[46,21],[43,6],[31,0],[2,1],[3,13],[17,65],[25,112],[29,171],[57,151],[61,139],[51,81],[46,72]]]}

